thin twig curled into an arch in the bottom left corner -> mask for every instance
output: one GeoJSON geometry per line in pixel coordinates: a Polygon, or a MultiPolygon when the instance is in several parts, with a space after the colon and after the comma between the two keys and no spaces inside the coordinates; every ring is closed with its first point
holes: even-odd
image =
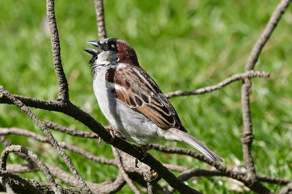
{"type": "Polygon", "coordinates": [[[55,180],[53,179],[53,177],[50,173],[50,170],[45,165],[45,163],[43,161],[41,161],[39,156],[37,156],[36,154],[34,154],[32,151],[30,151],[29,149],[27,149],[25,147],[22,147],[20,145],[11,145],[9,147],[6,147],[3,150],[3,152],[1,153],[1,158],[0,158],[0,164],[1,164],[2,170],[6,170],[6,160],[7,160],[8,154],[11,152],[21,152],[21,153],[29,156],[29,158],[31,158],[39,166],[41,171],[44,173],[46,180],[51,185],[53,191],[56,194],[61,194],[59,188],[57,187],[57,185],[55,183],[55,180]]]}

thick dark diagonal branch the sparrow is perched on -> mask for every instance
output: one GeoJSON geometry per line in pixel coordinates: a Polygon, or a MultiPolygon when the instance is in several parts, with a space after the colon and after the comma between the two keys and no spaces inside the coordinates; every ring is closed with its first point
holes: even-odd
{"type": "MultiPolygon", "coordinates": [[[[2,92],[0,86],[0,103],[6,103],[7,99],[1,97],[2,92]],[[3,100],[3,101],[2,101],[3,100]]],[[[6,90],[5,90],[6,91],[6,90]]],[[[12,95],[12,97],[14,97],[12,95]]],[[[20,97],[20,96],[17,96],[20,97]]],[[[15,98],[14,98],[15,99],[15,98]]],[[[23,97],[20,97],[20,99],[23,99],[23,97]]],[[[16,100],[16,99],[15,99],[16,100]]],[[[97,122],[91,115],[88,113],[82,111],[77,106],[71,104],[71,103],[65,103],[65,102],[59,102],[55,101],[54,106],[48,106],[46,102],[40,102],[36,103],[33,99],[29,99],[25,97],[26,103],[28,106],[32,106],[35,108],[41,108],[44,110],[51,110],[51,111],[57,111],[61,113],[65,113],[72,118],[82,122],[84,125],[86,125],[89,129],[91,129],[93,132],[98,134],[104,141],[110,141],[111,135],[109,132],[99,123],[97,122]]],[[[7,103],[11,104],[11,103],[7,103]]],[[[126,152],[130,154],[131,156],[138,158],[141,162],[149,165],[155,172],[157,172],[165,181],[167,181],[173,188],[177,189],[179,192],[185,192],[185,193],[199,193],[198,191],[190,188],[189,186],[185,185],[184,183],[180,182],[173,173],[171,173],[166,167],[164,167],[159,161],[157,161],[153,156],[148,154],[148,156],[141,160],[143,158],[142,152],[140,152],[140,149],[130,144],[120,138],[116,138],[111,145],[114,147],[117,147],[119,150],[126,152]]]]}

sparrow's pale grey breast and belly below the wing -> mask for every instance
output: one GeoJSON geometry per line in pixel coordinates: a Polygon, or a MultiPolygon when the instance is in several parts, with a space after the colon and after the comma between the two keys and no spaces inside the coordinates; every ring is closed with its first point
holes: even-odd
{"type": "Polygon", "coordinates": [[[105,84],[105,74],[97,75],[93,90],[102,113],[109,123],[128,140],[139,144],[159,143],[160,129],[149,118],[124,105],[105,84]]]}

